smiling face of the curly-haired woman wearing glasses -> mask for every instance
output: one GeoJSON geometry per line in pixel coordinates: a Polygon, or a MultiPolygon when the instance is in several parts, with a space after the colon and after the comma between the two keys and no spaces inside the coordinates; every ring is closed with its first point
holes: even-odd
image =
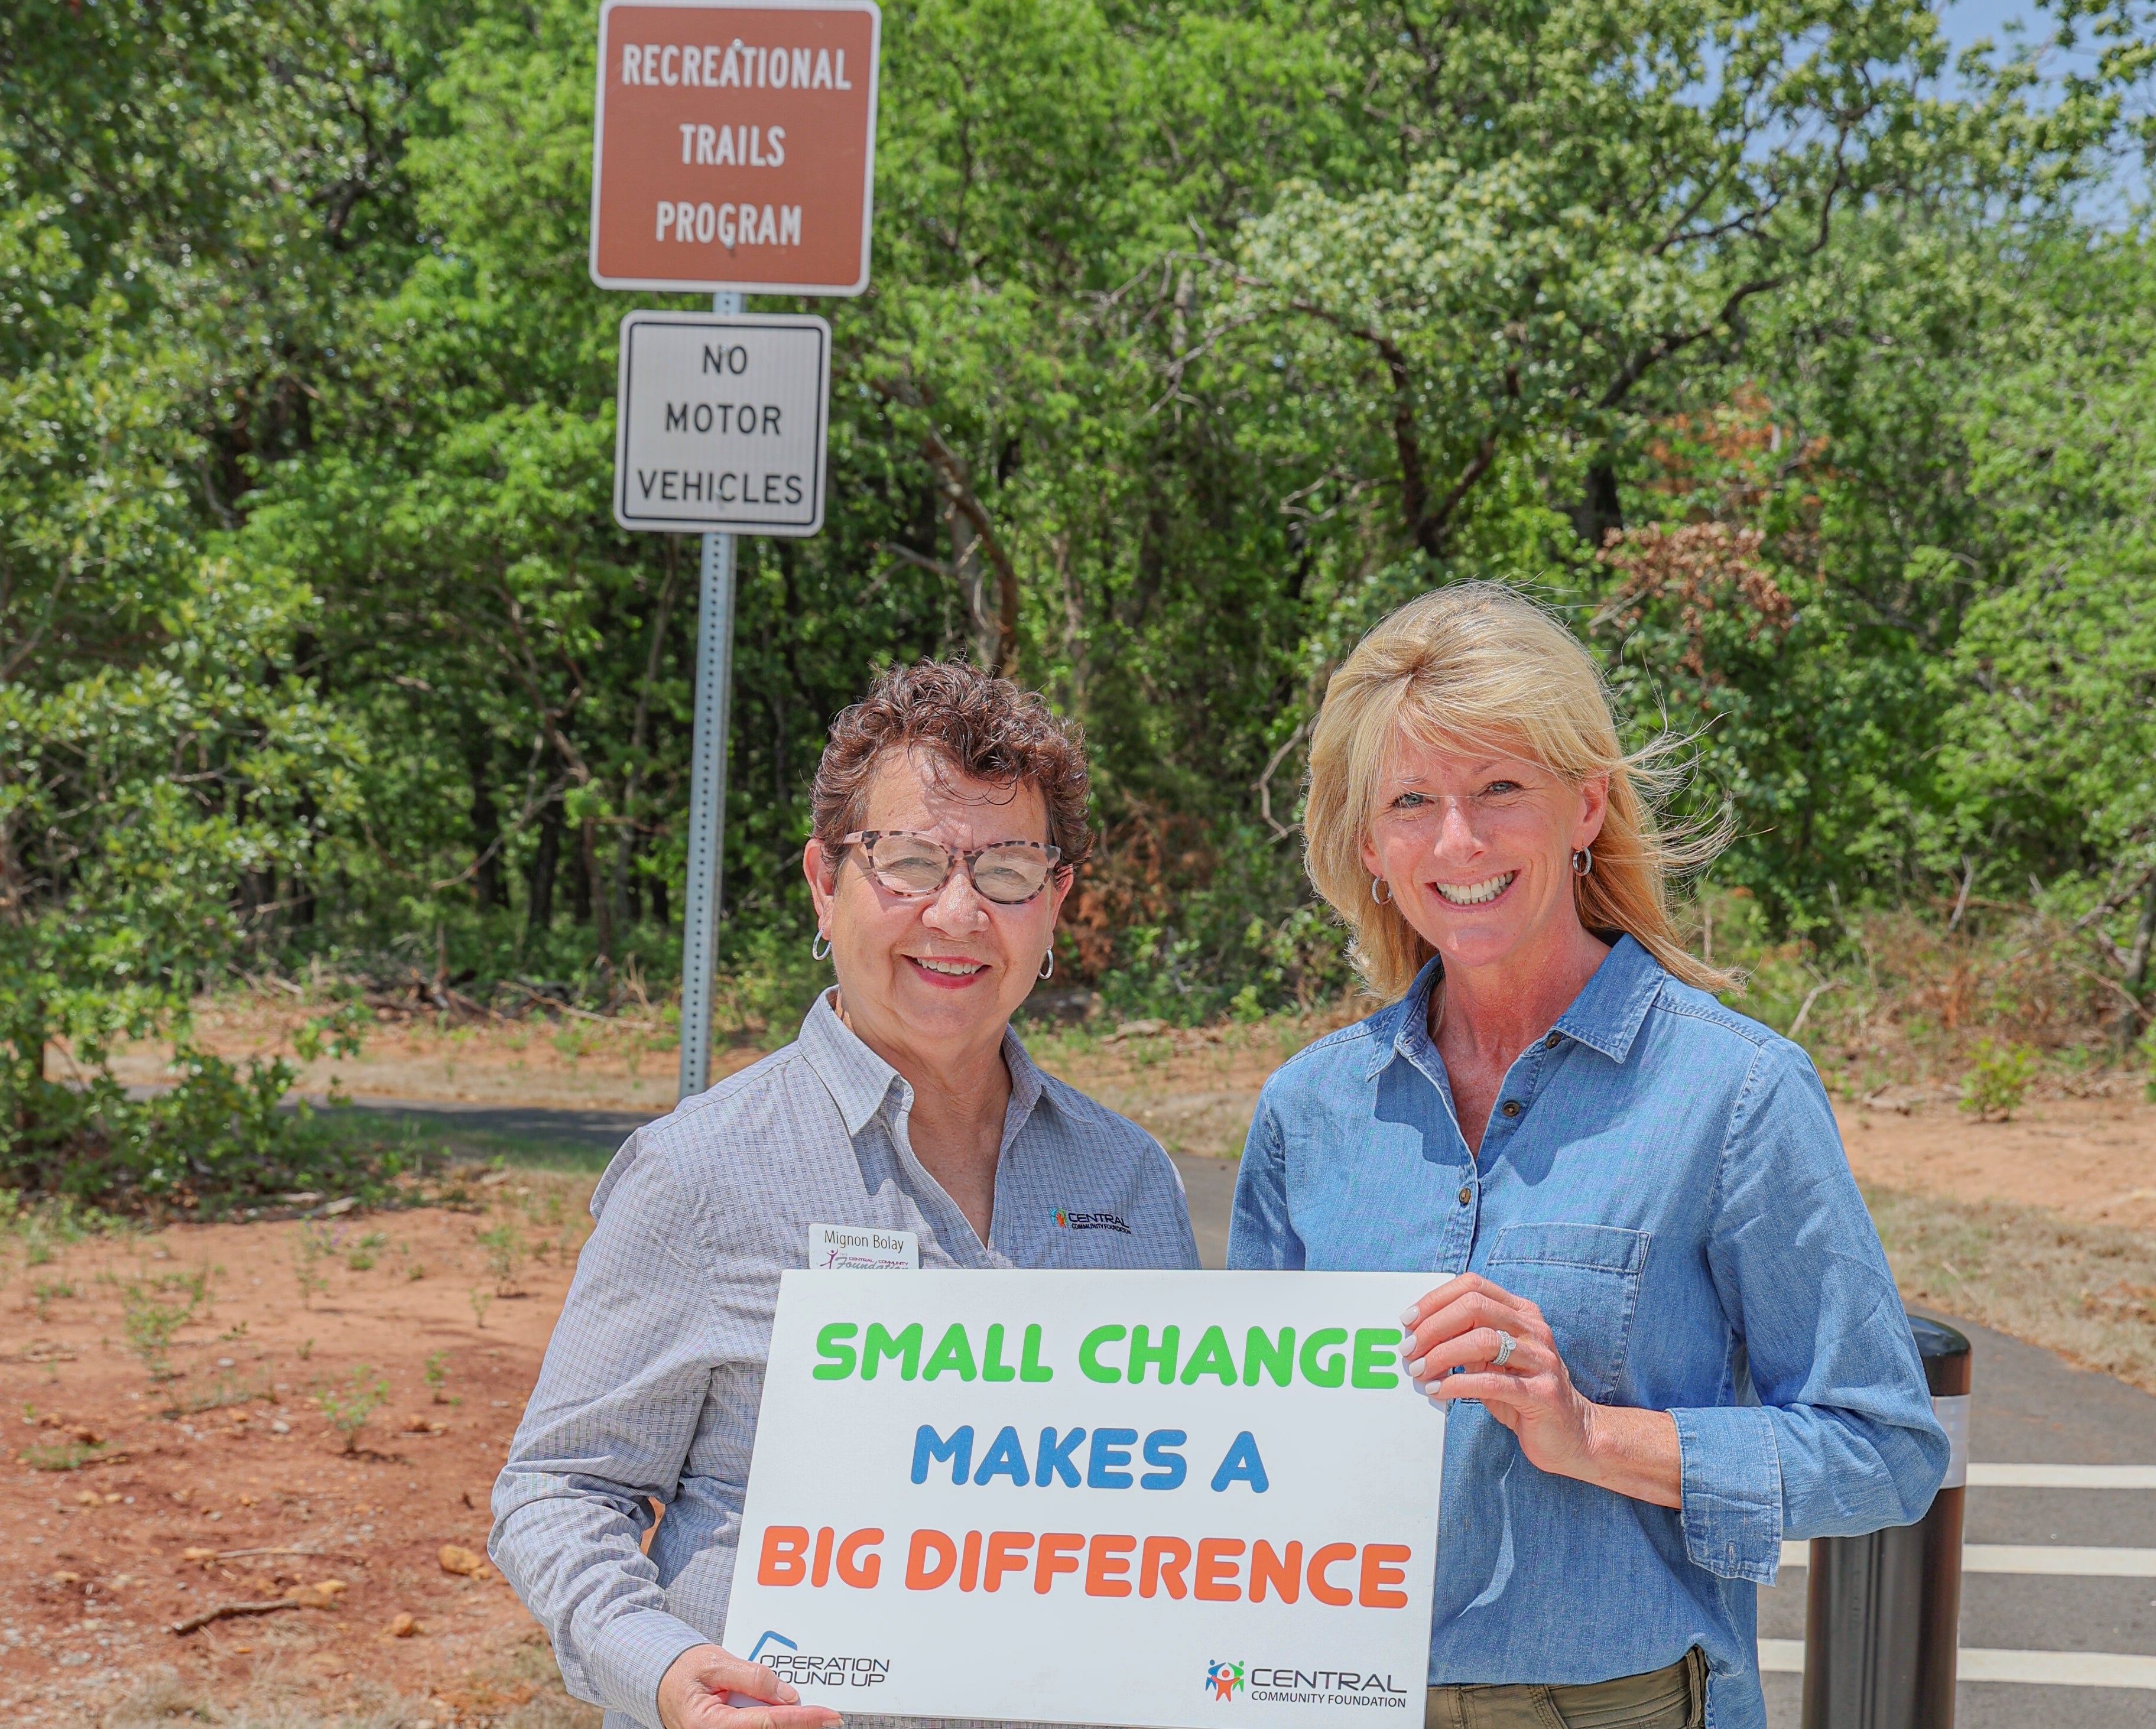
{"type": "MultiPolygon", "coordinates": [[[[858,826],[925,834],[953,854],[1048,841],[1039,789],[936,767],[918,750],[890,750],[869,780],[858,826]]],[[[901,1054],[934,1069],[1003,1041],[1039,977],[1072,882],[1069,871],[1056,871],[1031,901],[1000,905],[983,899],[964,869],[929,895],[897,895],[862,869],[860,847],[834,860],[811,841],[802,867],[847,1024],[901,1074],[901,1054]]]]}

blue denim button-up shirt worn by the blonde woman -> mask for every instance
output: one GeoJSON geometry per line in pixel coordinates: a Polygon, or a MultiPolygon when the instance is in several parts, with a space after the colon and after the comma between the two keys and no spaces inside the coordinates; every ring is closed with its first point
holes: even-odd
{"type": "Polygon", "coordinates": [[[1585,1397],[1677,1423],[1667,1509],[1449,1408],[1434,1686],[1604,1682],[1699,1645],[1708,1723],[1764,1729],[1783,1537],[1910,1524],[1947,1470],[1826,1091],[1621,938],[1511,1065],[1477,1158],[1429,1039],[1438,968],[1266,1082],[1229,1265],[1485,1274],[1542,1309],[1585,1397]]]}

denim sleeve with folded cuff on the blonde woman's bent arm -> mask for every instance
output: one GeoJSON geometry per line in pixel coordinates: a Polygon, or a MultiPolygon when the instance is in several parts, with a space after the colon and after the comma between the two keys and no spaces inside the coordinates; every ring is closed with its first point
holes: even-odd
{"type": "Polygon", "coordinates": [[[1826,1089],[1787,1041],[1757,1052],[1731,1108],[1708,1261],[1749,1388],[1671,1412],[1690,1559],[1764,1585],[1783,1537],[1923,1518],[1947,1434],[1826,1089]]]}

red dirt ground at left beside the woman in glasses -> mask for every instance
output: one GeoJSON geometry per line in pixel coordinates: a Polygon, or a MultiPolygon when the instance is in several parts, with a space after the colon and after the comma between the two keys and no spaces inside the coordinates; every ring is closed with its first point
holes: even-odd
{"type": "Polygon", "coordinates": [[[509,1589],[438,1559],[444,1544],[485,1550],[487,1494],[589,1229],[589,1190],[517,1175],[470,1209],[326,1220],[338,1242],[310,1306],[298,1222],[88,1240],[17,1268],[0,1311],[6,1720],[201,1720],[222,1703],[293,1725],[597,1723],[561,1692],[509,1589]],[[474,1237],[505,1220],[545,1255],[479,1326],[470,1294],[496,1281],[474,1237]],[[384,1242],[360,1248],[373,1233],[384,1242]],[[373,1265],[356,1272],[354,1253],[373,1265]],[[211,1302],[172,1345],[177,1375],[153,1382],[127,1347],[123,1287],[203,1270],[211,1302]],[[433,1352],[448,1403],[425,1382],[433,1352]],[[345,1453],[310,1393],[345,1386],[360,1365],[390,1399],[345,1453]],[[410,1419],[444,1431],[403,1434],[410,1419]],[[97,1447],[78,1470],[22,1462],[82,1436],[97,1447]],[[205,1608],[321,1580],[345,1585],[332,1608],[172,1632],[205,1608]],[[418,1632],[392,1636],[399,1615],[418,1632]]]}

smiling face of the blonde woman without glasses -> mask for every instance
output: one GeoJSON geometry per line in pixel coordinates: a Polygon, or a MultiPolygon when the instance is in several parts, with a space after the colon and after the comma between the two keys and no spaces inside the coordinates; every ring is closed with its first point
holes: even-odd
{"type": "Polygon", "coordinates": [[[1397,733],[1363,867],[1449,970],[1524,959],[1580,927],[1572,854],[1593,845],[1608,780],[1578,787],[1526,755],[1397,733]]]}

